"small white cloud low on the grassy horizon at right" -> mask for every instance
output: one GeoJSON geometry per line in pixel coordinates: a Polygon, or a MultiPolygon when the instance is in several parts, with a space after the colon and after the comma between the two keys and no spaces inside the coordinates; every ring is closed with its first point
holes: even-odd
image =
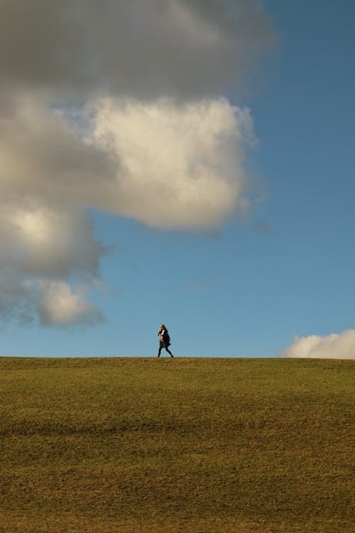
{"type": "Polygon", "coordinates": [[[282,357],[355,359],[355,330],[333,333],[325,337],[320,335],[295,337],[293,344],[280,350],[279,355],[282,357]]]}

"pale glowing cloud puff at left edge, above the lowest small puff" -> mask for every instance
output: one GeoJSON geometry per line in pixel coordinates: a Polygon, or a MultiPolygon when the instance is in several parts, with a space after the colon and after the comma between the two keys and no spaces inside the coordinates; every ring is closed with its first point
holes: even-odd
{"type": "MultiPolygon", "coordinates": [[[[0,204],[1,205],[1,204],[0,204]]],[[[26,276],[66,278],[75,272],[97,276],[104,252],[92,237],[87,212],[38,205],[4,205],[0,215],[2,264],[26,276]]]]}

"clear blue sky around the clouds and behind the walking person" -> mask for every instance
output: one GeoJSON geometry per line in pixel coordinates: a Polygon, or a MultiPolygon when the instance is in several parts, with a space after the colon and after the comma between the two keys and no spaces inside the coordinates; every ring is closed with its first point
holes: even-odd
{"type": "Polygon", "coordinates": [[[165,323],[178,356],[274,357],[297,335],[304,351],[286,355],[320,357],[316,335],[333,357],[355,357],[355,4],[265,11],[273,51],[246,90],[224,93],[251,109],[258,139],[244,161],[249,211],[171,229],[94,208],[108,250],[89,297],[104,321],[4,320],[2,355],[153,356],[165,323]]]}

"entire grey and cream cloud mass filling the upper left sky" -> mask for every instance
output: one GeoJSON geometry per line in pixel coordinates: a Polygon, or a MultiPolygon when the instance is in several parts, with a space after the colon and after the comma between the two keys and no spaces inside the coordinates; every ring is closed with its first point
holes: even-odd
{"type": "Polygon", "coordinates": [[[211,229],[248,208],[258,0],[0,0],[0,317],[102,321],[90,208],[211,229]]]}

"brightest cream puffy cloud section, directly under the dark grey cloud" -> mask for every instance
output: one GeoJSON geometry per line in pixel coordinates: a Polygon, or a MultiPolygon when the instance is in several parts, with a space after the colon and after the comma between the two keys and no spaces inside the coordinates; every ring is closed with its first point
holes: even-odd
{"type": "Polygon", "coordinates": [[[111,210],[188,230],[217,227],[247,208],[244,150],[254,141],[249,109],[226,99],[105,99],[94,138],[120,163],[116,191],[107,190],[111,210]]]}

